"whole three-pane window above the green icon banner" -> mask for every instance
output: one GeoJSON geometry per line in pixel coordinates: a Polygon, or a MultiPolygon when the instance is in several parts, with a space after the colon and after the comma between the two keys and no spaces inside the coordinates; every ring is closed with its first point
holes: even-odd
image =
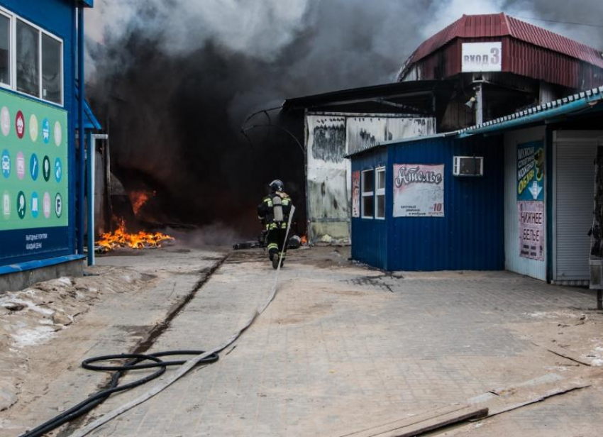
{"type": "Polygon", "coordinates": [[[63,103],[62,40],[1,7],[0,87],[63,103]]]}

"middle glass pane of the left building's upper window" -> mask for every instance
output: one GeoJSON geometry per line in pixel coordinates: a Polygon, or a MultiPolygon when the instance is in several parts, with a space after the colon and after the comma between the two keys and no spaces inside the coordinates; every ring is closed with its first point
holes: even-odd
{"type": "Polygon", "coordinates": [[[40,31],[17,20],[17,91],[40,96],[40,31]]]}

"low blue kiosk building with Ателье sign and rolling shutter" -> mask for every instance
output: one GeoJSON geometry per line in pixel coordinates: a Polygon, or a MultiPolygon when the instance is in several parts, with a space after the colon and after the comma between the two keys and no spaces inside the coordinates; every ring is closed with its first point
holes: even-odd
{"type": "Polygon", "coordinates": [[[352,258],[384,270],[510,270],[588,284],[603,262],[590,236],[601,239],[602,121],[599,87],[351,153],[352,258]]]}

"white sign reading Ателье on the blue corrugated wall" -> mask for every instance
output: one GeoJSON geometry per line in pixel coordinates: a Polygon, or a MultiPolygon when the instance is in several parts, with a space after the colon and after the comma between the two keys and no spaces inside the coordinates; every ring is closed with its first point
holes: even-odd
{"type": "Polygon", "coordinates": [[[394,217],[444,216],[444,165],[394,164],[394,217]]]}

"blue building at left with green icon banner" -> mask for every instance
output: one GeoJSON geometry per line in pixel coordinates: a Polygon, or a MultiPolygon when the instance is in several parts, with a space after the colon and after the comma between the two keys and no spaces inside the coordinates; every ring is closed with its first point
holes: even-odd
{"type": "Polygon", "coordinates": [[[94,123],[84,115],[78,78],[83,12],[92,6],[0,0],[0,292],[81,270],[85,158],[78,120],[94,123]]]}

